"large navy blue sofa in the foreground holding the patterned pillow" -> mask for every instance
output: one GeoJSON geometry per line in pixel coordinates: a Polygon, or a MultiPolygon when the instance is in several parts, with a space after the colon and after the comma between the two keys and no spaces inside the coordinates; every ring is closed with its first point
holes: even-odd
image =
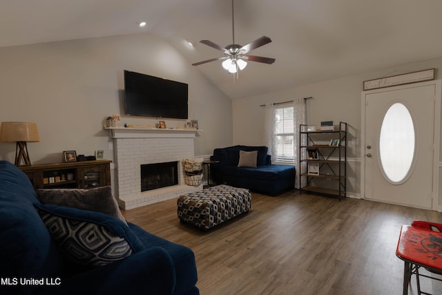
{"type": "Polygon", "coordinates": [[[191,249],[104,213],[41,204],[26,174],[6,161],[0,161],[0,261],[0,294],[199,294],[191,249]],[[48,231],[47,216],[96,222],[131,253],[105,265],[77,265],[48,231]]]}

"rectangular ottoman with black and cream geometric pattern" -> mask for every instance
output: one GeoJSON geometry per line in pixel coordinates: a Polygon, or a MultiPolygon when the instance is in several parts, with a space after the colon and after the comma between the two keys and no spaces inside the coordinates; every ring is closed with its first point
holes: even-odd
{"type": "Polygon", "coordinates": [[[222,184],[180,196],[177,204],[181,221],[201,229],[210,229],[249,211],[251,193],[248,189],[222,184]]]}

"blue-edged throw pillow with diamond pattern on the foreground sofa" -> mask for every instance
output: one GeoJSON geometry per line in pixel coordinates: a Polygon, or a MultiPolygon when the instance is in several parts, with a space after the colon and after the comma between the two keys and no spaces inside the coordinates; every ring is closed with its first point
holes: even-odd
{"type": "Polygon", "coordinates": [[[104,213],[35,204],[61,253],[73,263],[97,267],[142,251],[142,242],[122,220],[104,213]]]}

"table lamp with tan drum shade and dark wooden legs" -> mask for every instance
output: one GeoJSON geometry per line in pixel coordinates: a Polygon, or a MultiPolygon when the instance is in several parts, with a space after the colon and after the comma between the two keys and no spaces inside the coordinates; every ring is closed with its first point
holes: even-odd
{"type": "Polygon", "coordinates": [[[28,122],[2,122],[0,142],[17,142],[15,165],[30,166],[27,142],[39,142],[37,124],[28,122]],[[21,164],[23,160],[24,164],[21,164]]]}

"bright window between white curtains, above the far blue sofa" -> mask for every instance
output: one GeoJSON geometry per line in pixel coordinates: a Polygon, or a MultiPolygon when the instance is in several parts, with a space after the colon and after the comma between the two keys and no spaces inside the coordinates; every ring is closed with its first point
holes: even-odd
{"type": "Polygon", "coordinates": [[[294,107],[275,109],[276,162],[295,162],[294,107]]]}

